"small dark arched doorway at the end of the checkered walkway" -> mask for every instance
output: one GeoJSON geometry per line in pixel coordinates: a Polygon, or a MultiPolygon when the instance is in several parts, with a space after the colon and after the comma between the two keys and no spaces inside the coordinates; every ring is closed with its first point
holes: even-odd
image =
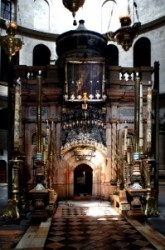
{"type": "Polygon", "coordinates": [[[93,170],[80,164],[74,170],[74,195],[92,195],[93,170]]]}

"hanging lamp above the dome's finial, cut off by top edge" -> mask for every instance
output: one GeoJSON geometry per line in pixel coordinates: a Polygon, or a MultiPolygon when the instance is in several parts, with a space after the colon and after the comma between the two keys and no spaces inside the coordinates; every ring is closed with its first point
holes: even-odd
{"type": "MultiPolygon", "coordinates": [[[[75,18],[76,12],[80,7],[84,5],[84,2],[85,0],[63,0],[63,5],[65,6],[65,8],[72,12],[73,18],[75,18]]],[[[73,24],[77,24],[75,20],[73,24]]]]}

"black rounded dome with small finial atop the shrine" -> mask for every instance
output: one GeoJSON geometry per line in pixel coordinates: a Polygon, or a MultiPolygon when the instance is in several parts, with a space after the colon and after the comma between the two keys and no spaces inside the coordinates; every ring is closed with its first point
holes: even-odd
{"type": "Polygon", "coordinates": [[[79,21],[76,30],[60,35],[56,40],[56,51],[59,59],[67,57],[104,57],[107,40],[101,34],[87,30],[84,21],[79,21]]]}

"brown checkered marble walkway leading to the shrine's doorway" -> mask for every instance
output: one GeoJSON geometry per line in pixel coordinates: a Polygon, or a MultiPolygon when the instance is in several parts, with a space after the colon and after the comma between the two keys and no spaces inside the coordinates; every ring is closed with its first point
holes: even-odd
{"type": "Polygon", "coordinates": [[[59,204],[45,250],[153,250],[155,248],[108,204],[59,204]]]}

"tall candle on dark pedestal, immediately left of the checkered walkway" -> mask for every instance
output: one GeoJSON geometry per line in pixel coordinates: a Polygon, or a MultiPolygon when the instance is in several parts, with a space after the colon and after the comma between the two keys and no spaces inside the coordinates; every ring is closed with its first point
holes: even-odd
{"type": "Polygon", "coordinates": [[[31,215],[33,219],[46,219],[53,212],[56,203],[56,196],[52,196],[51,184],[51,162],[46,164],[48,155],[45,152],[42,142],[42,72],[38,75],[38,100],[37,100],[37,153],[34,160],[35,163],[35,184],[36,186],[30,190],[29,194],[32,199],[31,215]],[[44,156],[45,153],[45,156],[44,156]],[[45,159],[44,159],[45,158],[45,159]],[[49,189],[50,188],[50,189],[49,189]]]}

